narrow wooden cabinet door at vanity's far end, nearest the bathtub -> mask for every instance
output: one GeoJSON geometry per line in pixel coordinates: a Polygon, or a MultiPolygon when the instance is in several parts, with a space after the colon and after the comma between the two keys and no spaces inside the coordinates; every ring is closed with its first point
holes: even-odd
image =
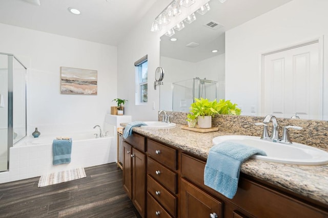
{"type": "Polygon", "coordinates": [[[123,144],[123,188],[129,198],[132,198],[132,146],[126,142],[123,144]]]}

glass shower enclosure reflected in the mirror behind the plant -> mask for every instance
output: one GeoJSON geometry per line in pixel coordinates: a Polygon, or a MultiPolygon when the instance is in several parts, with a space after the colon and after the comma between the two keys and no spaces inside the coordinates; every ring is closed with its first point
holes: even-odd
{"type": "Polygon", "coordinates": [[[199,77],[172,83],[173,111],[188,112],[194,98],[218,98],[218,81],[199,77]]]}

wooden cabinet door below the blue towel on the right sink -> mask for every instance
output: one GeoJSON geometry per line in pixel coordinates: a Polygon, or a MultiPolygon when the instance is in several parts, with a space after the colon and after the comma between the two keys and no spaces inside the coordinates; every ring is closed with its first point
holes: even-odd
{"type": "Polygon", "coordinates": [[[208,218],[215,217],[215,214],[217,217],[222,217],[221,207],[220,201],[181,179],[181,217],[208,218]]]}

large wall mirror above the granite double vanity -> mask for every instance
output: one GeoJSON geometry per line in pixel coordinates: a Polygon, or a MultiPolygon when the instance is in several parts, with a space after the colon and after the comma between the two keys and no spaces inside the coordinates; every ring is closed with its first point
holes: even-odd
{"type": "Polygon", "coordinates": [[[242,115],[328,120],[327,1],[209,4],[160,38],[160,110],[188,112],[193,97],[225,98],[242,115]]]}

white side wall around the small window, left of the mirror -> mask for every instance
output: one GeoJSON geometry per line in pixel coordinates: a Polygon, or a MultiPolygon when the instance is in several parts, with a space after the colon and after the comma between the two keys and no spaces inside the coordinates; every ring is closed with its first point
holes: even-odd
{"type": "Polygon", "coordinates": [[[159,89],[154,90],[155,70],[159,67],[159,33],[151,32],[155,17],[170,3],[157,1],[117,47],[117,97],[128,99],[125,114],[135,120],[157,120],[159,110],[159,89]],[[135,105],[134,62],[148,54],[148,103],[135,105]],[[154,103],[153,103],[154,102],[154,103]],[[153,104],[155,108],[153,109],[153,104]]]}

